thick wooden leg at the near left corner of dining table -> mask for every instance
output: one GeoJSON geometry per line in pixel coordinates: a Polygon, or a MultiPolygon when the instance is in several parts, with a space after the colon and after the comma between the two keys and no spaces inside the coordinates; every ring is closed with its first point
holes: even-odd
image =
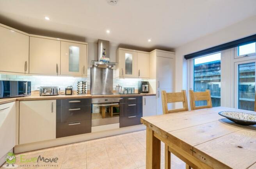
{"type": "Polygon", "coordinates": [[[161,142],[153,130],[147,127],[146,134],[146,169],[160,169],[161,142]]]}

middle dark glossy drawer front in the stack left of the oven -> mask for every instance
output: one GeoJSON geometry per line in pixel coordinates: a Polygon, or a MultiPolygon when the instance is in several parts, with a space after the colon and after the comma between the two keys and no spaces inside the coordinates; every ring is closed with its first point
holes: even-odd
{"type": "Polygon", "coordinates": [[[56,122],[91,120],[91,106],[57,107],[56,122]]]}

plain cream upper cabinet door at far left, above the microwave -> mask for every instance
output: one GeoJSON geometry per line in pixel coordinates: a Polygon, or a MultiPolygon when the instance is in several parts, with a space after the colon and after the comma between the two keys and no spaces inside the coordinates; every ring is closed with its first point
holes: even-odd
{"type": "Polygon", "coordinates": [[[2,26],[0,37],[0,71],[28,73],[29,37],[2,26]]]}

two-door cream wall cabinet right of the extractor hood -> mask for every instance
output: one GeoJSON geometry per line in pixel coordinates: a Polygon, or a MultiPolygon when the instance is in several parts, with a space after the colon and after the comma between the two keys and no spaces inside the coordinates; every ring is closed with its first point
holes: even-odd
{"type": "Polygon", "coordinates": [[[119,48],[116,61],[117,77],[149,78],[149,53],[119,48]]]}

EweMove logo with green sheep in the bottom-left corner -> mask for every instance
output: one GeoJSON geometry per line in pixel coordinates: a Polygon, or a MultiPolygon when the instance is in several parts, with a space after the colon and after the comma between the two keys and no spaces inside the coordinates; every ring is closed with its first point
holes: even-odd
{"type": "MultiPolygon", "coordinates": [[[[39,155],[38,157],[30,157],[26,158],[25,155],[20,155],[20,166],[21,167],[58,167],[58,162],[59,158],[53,157],[53,158],[45,158],[39,155]],[[38,164],[39,162],[40,165],[38,164]],[[37,163],[37,164],[31,164],[31,163],[37,163]]],[[[5,168],[16,168],[18,165],[15,164],[16,162],[16,157],[14,153],[7,153],[5,157],[6,164],[3,165],[5,168]]]]}

